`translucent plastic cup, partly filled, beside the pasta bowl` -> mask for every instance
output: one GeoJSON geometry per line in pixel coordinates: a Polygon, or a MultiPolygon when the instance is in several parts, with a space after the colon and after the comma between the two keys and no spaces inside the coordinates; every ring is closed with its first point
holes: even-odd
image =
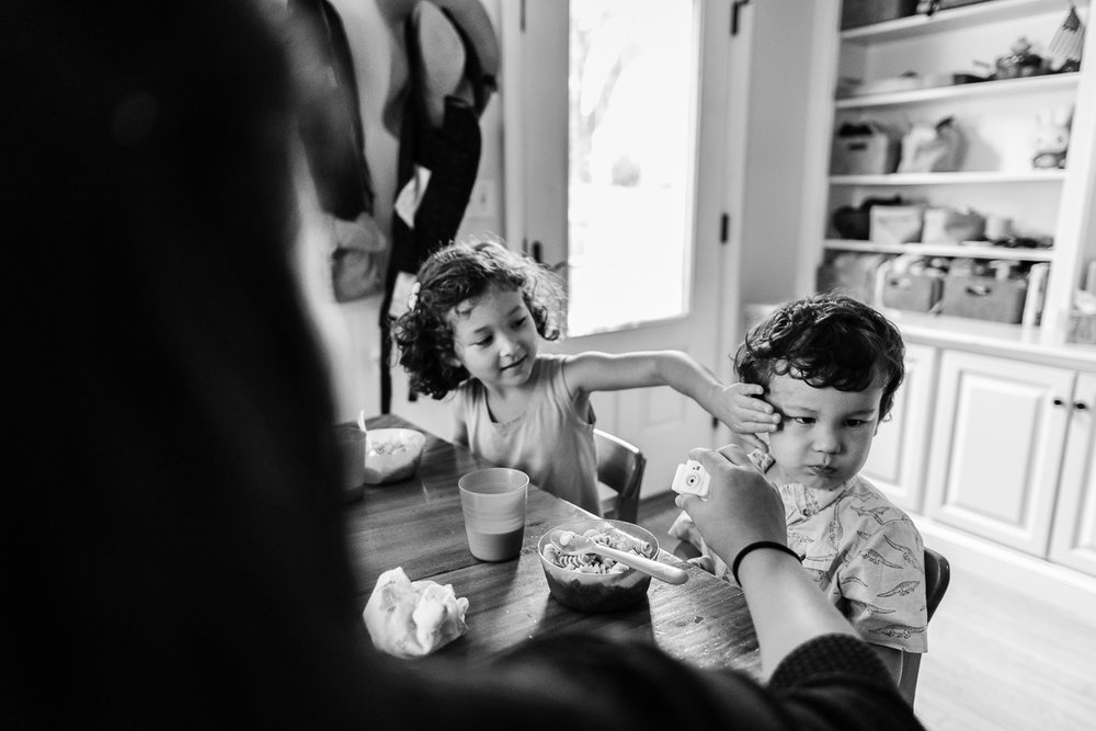
{"type": "Polygon", "coordinates": [[[457,481],[468,550],[481,561],[507,561],[522,552],[529,476],[489,467],[457,481]]]}

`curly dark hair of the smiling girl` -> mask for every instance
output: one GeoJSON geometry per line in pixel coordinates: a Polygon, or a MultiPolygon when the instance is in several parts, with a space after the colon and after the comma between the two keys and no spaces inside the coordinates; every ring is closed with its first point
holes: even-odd
{"type": "Polygon", "coordinates": [[[540,336],[560,338],[563,289],[551,270],[495,241],[452,243],[419,267],[411,307],[392,328],[412,389],[441,399],[468,378],[453,346],[453,310],[492,286],[520,290],[540,336]]]}

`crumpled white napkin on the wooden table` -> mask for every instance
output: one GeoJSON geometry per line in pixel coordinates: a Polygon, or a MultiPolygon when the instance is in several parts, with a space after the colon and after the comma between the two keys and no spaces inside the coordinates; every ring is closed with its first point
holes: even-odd
{"type": "Polygon", "coordinates": [[[467,610],[468,599],[457,598],[452,584],[411,581],[402,567],[396,567],[377,579],[362,618],[378,650],[421,658],[468,630],[467,610]]]}

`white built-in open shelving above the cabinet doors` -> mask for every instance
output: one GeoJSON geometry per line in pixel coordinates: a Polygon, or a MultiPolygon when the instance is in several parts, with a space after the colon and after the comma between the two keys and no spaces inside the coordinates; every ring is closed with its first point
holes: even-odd
{"type": "MultiPolygon", "coordinates": [[[[812,252],[811,261],[829,263],[854,251],[1012,260],[1021,270],[1046,262],[1050,269],[1042,321],[1061,340],[1073,292],[1082,284],[1087,262],[1096,259],[1096,214],[1092,210],[1096,203],[1096,32],[1089,3],[1076,3],[1088,30],[1080,72],[838,99],[842,78],[872,82],[906,72],[928,79],[978,71],[975,61],[992,65],[997,56],[1007,56],[1020,36],[1046,56],[1069,9],[1060,0],[989,0],[941,10],[932,18],[915,15],[840,31],[840,0],[821,0],[817,7],[815,18],[829,26],[823,24],[819,31],[811,83],[827,91],[817,95],[809,147],[829,150],[844,123],[870,119],[909,129],[916,123],[935,124],[954,116],[966,149],[958,171],[928,173],[834,175],[829,155],[821,153],[810,165],[817,170],[819,185],[804,205],[803,248],[812,252]],[[1032,169],[1038,113],[1061,106],[1073,108],[1068,165],[1065,170],[1032,169]],[[876,244],[840,238],[831,222],[834,210],[893,195],[931,207],[971,207],[1007,218],[1016,235],[1046,238],[1053,247],[1005,249],[971,241],[961,245],[876,244]]],[[[799,276],[804,276],[803,270],[799,276]]],[[[946,319],[940,322],[949,327],[946,319]]]]}

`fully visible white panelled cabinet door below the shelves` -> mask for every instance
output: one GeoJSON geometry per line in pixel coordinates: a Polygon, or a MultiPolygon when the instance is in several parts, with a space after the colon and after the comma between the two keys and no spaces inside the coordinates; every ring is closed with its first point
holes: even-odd
{"type": "Polygon", "coordinates": [[[1064,368],[944,353],[928,515],[1046,558],[1074,377],[1064,368]]]}

